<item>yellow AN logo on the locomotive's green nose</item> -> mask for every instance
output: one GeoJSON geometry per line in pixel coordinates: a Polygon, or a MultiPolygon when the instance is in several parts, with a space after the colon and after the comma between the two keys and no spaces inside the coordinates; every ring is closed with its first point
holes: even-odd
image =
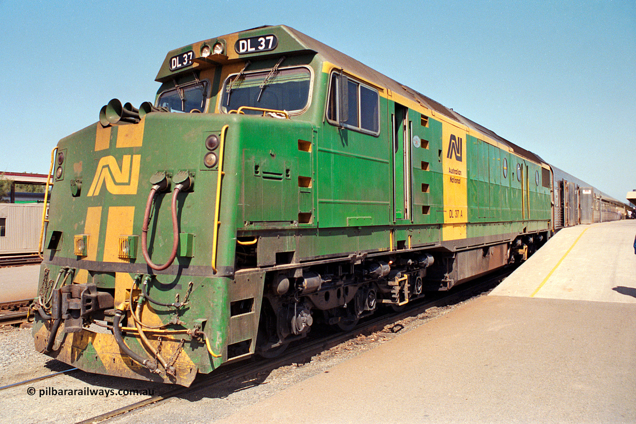
{"type": "Polygon", "coordinates": [[[88,190],[88,197],[99,195],[99,190],[106,182],[106,190],[111,194],[137,194],[139,181],[139,164],[141,155],[123,155],[121,168],[113,156],[105,156],[99,160],[93,183],[88,190]],[[132,156],[132,166],[130,157],[132,156]]]}

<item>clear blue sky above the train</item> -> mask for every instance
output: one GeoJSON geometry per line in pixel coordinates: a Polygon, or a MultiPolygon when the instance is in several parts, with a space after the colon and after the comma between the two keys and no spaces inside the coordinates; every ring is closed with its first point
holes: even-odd
{"type": "Polygon", "coordinates": [[[286,24],[625,201],[636,188],[636,2],[0,0],[0,172],[46,173],[166,53],[286,24]]]}

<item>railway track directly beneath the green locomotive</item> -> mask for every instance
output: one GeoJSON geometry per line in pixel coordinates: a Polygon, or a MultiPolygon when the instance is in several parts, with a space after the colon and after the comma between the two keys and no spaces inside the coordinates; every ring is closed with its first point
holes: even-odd
{"type": "Polygon", "coordinates": [[[166,400],[172,399],[173,397],[178,397],[186,393],[194,393],[197,392],[197,390],[209,388],[212,385],[220,385],[233,379],[244,378],[258,372],[271,371],[283,365],[303,362],[303,360],[306,360],[307,358],[311,358],[314,355],[321,353],[322,351],[329,350],[334,346],[338,346],[338,344],[357,337],[360,334],[377,332],[400,320],[417,316],[420,313],[424,313],[431,307],[457,304],[459,302],[462,302],[463,300],[467,300],[471,297],[479,295],[480,293],[492,290],[492,288],[501,283],[504,278],[511,274],[513,270],[514,269],[508,268],[504,271],[497,272],[497,274],[494,276],[491,275],[486,278],[478,279],[473,283],[467,283],[465,286],[460,286],[457,291],[453,290],[450,293],[443,293],[441,295],[438,294],[434,297],[434,299],[431,300],[422,299],[420,301],[413,302],[412,305],[408,306],[403,311],[384,314],[382,316],[378,316],[377,318],[371,318],[364,321],[363,323],[359,323],[353,330],[350,330],[348,332],[341,332],[328,337],[321,337],[316,340],[305,341],[305,343],[298,343],[293,346],[293,348],[289,348],[286,352],[284,352],[277,358],[259,359],[245,364],[239,363],[226,365],[219,370],[221,372],[219,372],[218,374],[213,373],[209,376],[205,376],[199,381],[195,380],[195,382],[190,387],[179,386],[177,388],[174,388],[174,390],[163,393],[162,395],[150,397],[149,399],[141,400],[128,406],[120,407],[118,409],[114,409],[113,411],[93,416],[92,418],[88,418],[87,420],[79,421],[76,424],[97,424],[113,420],[114,418],[119,419],[126,414],[130,414],[134,411],[139,411],[142,408],[162,404],[166,400]]]}

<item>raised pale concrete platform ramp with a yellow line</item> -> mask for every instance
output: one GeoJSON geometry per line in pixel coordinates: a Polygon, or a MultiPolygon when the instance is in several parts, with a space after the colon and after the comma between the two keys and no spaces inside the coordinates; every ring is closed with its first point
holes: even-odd
{"type": "Polygon", "coordinates": [[[562,229],[491,295],[636,303],[636,220],[562,229]]]}

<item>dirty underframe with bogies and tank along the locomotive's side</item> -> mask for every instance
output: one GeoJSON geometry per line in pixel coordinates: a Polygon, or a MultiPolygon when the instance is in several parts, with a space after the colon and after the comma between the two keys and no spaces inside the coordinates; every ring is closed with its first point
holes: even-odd
{"type": "Polygon", "coordinates": [[[279,229],[242,233],[238,237],[239,241],[256,241],[249,246],[237,244],[235,279],[239,281],[242,275],[263,278],[263,306],[254,346],[254,351],[263,356],[274,355],[290,341],[305,337],[314,320],[350,329],[380,305],[399,307],[425,292],[448,290],[521,262],[550,236],[546,230],[537,230],[417,248],[398,243],[399,250],[357,251],[346,257],[298,260],[306,235],[279,229]],[[269,267],[240,269],[241,265],[272,262],[269,267]]]}

